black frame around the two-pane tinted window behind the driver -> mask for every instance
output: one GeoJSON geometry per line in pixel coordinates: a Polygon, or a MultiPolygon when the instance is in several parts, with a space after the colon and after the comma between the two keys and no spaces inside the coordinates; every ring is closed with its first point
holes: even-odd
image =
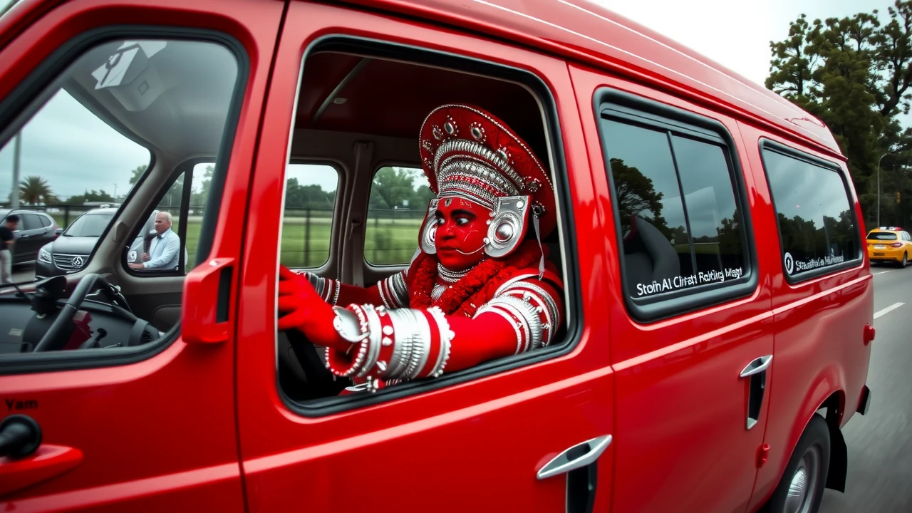
{"type": "MultiPolygon", "coordinates": [[[[748,188],[744,180],[738,146],[735,144],[728,128],[719,120],[610,87],[596,89],[593,96],[593,110],[598,131],[599,150],[602,153],[602,160],[605,163],[605,172],[608,179],[608,189],[612,204],[611,216],[615,225],[617,242],[617,261],[620,267],[621,294],[624,296],[627,313],[639,322],[650,323],[713,307],[735,299],[746,298],[753,294],[760,285],[760,279],[751,220],[751,202],[747,193],[748,188]],[[617,189],[611,169],[611,159],[607,151],[607,136],[604,126],[606,120],[615,120],[653,130],[670,131],[673,135],[687,137],[721,148],[728,164],[729,173],[733,179],[732,193],[734,194],[735,205],[741,214],[741,255],[744,258],[744,273],[741,277],[720,283],[682,288],[649,298],[632,298],[627,293],[627,290],[629,290],[627,262],[623,255],[624,240],[620,216],[617,214],[617,189]]],[[[677,164],[675,174],[680,180],[677,164]]],[[[684,215],[689,215],[686,207],[684,215]]]]}

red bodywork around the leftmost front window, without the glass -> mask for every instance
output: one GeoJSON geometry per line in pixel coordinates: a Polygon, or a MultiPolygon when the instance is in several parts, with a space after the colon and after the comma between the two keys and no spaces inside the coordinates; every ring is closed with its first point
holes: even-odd
{"type": "MultiPolygon", "coordinates": [[[[225,225],[233,225],[228,219],[244,216],[243,191],[281,15],[282,4],[274,1],[203,0],[192,6],[181,0],[154,5],[141,0],[24,2],[0,24],[5,43],[0,49],[0,101],[26,78],[32,79],[39,67],[51,64],[57,76],[86,48],[59,61],[48,62],[49,56],[61,48],[79,47],[80,37],[93,29],[110,27],[110,37],[117,38],[116,26],[176,25],[188,28],[178,31],[184,37],[210,29],[241,41],[250,69],[244,75],[246,92],[236,99],[243,104],[240,118],[227,125],[236,131],[236,140],[224,174],[223,224],[212,246],[213,257],[238,257],[240,234],[225,225]],[[11,24],[21,20],[26,25],[11,39],[11,24]]],[[[110,236],[103,239],[100,244],[113,244],[110,236]]],[[[124,271],[111,267],[114,276],[109,279],[118,283],[123,275],[118,277],[117,272],[124,271]]],[[[81,274],[67,277],[70,286],[81,274]]],[[[39,424],[46,445],[78,455],[65,472],[40,482],[26,479],[24,484],[33,486],[0,497],[5,509],[161,511],[180,506],[244,511],[233,334],[214,347],[188,345],[180,332],[157,344],[150,348],[150,356],[130,364],[0,375],[0,397],[6,402],[3,416],[28,414],[39,424]],[[25,411],[7,408],[9,402],[24,404],[25,411]]],[[[92,357],[87,351],[83,358],[92,357]]],[[[0,466],[16,463],[0,458],[0,466]]]]}

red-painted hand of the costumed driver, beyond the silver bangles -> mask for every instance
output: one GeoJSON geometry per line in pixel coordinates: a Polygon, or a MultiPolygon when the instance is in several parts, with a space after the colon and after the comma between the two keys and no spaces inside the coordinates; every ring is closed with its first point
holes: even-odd
{"type": "Polygon", "coordinates": [[[278,329],[299,330],[308,340],[320,346],[345,351],[349,343],[333,328],[336,317],[332,307],[316,293],[303,275],[279,266],[278,329]]]}

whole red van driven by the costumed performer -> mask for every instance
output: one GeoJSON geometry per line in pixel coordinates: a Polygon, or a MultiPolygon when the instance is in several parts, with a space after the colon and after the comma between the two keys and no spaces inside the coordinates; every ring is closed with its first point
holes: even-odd
{"type": "Polygon", "coordinates": [[[596,5],[22,0],[17,138],[23,176],[122,203],[77,273],[0,289],[4,510],[779,513],[851,486],[874,285],[845,156],[596,5]],[[278,268],[407,268],[420,127],[450,103],[544,162],[565,316],[542,349],[369,393],[277,331],[278,268]],[[154,210],[176,269],[125,262],[154,210]]]}

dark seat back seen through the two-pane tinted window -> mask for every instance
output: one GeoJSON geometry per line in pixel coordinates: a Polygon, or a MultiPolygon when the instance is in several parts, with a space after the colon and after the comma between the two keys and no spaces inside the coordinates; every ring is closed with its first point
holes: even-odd
{"type": "Polygon", "coordinates": [[[630,284],[652,283],[680,276],[680,258],[674,246],[658,228],[642,217],[632,215],[630,234],[624,241],[627,280],[630,284]]]}

